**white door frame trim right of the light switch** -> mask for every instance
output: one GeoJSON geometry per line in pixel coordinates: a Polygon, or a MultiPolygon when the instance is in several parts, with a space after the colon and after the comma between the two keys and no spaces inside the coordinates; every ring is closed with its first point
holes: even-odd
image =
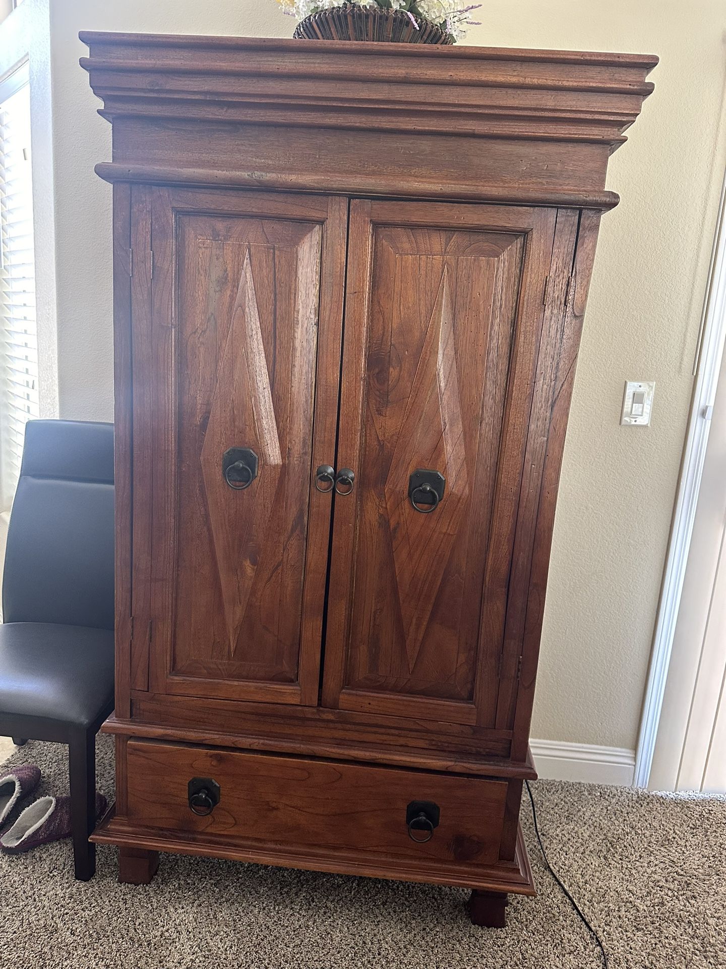
{"type": "Polygon", "coordinates": [[[701,487],[706,447],[711,431],[711,414],[718,384],[726,336],[726,174],[724,175],[718,221],[713,240],[711,267],[701,321],[697,350],[698,362],[691,414],[681,466],[676,510],[666,558],[660,606],[655,623],[648,685],[643,704],[638,749],[635,757],[637,787],[647,787],[650,779],[655,738],[663,707],[666,677],[676,632],[688,549],[693,534],[698,494],[701,487]]]}

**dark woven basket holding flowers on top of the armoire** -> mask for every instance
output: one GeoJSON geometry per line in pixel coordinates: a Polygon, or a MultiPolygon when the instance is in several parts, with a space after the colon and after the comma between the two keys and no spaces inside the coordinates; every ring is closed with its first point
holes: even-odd
{"type": "Polygon", "coordinates": [[[405,11],[344,3],[298,23],[293,37],[313,41],[392,41],[398,44],[453,44],[439,24],[405,11]]]}

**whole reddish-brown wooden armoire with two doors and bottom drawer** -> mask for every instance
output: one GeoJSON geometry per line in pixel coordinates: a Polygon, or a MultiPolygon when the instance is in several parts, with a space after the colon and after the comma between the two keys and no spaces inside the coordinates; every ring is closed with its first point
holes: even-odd
{"type": "Polygon", "coordinates": [[[209,855],[501,925],[606,167],[657,58],[81,39],[113,126],[94,840],[126,882],[209,855]]]}

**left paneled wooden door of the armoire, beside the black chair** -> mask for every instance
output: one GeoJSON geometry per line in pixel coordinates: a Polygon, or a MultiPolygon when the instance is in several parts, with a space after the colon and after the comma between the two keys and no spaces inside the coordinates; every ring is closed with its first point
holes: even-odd
{"type": "Polygon", "coordinates": [[[135,686],[317,703],[347,202],[140,188],[134,210],[135,686]]]}

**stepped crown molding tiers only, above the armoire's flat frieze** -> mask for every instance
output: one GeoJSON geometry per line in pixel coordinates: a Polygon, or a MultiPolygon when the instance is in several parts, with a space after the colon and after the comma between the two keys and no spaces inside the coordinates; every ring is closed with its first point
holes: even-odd
{"type": "Polygon", "coordinates": [[[657,58],[83,32],[105,116],[134,114],[469,137],[606,142],[640,112],[657,58]]]}

